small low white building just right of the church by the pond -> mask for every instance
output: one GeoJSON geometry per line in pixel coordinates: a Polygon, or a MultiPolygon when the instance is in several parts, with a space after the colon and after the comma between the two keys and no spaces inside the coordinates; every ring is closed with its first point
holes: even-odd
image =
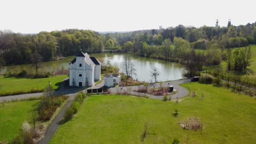
{"type": "Polygon", "coordinates": [[[104,75],[104,86],[106,87],[114,87],[114,84],[120,85],[121,76],[120,75],[104,75]]]}

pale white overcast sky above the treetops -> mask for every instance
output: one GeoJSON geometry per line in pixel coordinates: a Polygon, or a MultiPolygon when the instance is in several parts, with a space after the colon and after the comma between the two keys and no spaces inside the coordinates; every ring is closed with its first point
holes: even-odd
{"type": "Polygon", "coordinates": [[[39,33],[78,28],[136,31],[178,25],[201,27],[256,21],[252,0],[1,0],[0,30],[39,33]]]}

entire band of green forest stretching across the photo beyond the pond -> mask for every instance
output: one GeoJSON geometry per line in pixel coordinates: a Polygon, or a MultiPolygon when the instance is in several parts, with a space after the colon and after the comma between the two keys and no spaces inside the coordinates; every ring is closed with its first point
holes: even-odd
{"type": "Polygon", "coordinates": [[[0,31],[0,65],[31,63],[36,57],[54,61],[75,55],[78,51],[101,52],[125,50],[133,55],[179,62],[193,76],[204,65],[218,65],[226,61],[229,70],[245,70],[250,64],[251,48],[256,44],[256,22],[226,27],[185,27],[150,29],[125,33],[100,34],[90,30],[21,34],[0,31]],[[248,47],[246,47],[248,46],[248,47]],[[232,47],[246,49],[231,52],[232,47]]]}

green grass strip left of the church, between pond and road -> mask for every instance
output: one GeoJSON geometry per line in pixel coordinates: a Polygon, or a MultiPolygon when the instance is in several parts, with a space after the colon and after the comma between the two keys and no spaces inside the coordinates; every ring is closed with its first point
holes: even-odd
{"type": "Polygon", "coordinates": [[[31,89],[43,90],[49,85],[49,81],[51,82],[51,86],[56,89],[61,85],[62,80],[66,77],[67,75],[58,75],[42,79],[26,79],[18,77],[4,78],[3,76],[0,76],[0,95],[1,93],[8,92],[30,92],[31,89]]]}

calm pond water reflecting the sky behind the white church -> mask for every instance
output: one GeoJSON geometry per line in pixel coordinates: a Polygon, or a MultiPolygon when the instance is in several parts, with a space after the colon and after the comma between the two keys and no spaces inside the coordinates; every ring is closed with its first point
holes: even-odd
{"type": "MultiPolygon", "coordinates": [[[[124,56],[129,55],[126,53],[94,53],[90,56],[98,58],[101,62],[110,61],[111,64],[117,65],[119,71],[123,72],[121,69],[121,63],[123,62],[124,56]]],[[[61,59],[60,61],[51,61],[43,62],[43,71],[51,71],[56,69],[65,69],[69,68],[69,63],[73,60],[75,56],[69,56],[61,59]]],[[[150,76],[150,71],[155,67],[160,71],[158,81],[170,81],[182,79],[182,74],[184,71],[183,65],[179,63],[172,63],[167,61],[162,61],[158,59],[146,58],[146,57],[136,57],[131,56],[132,63],[135,65],[137,76],[133,76],[133,79],[139,81],[150,82],[152,77],[150,76]]],[[[34,68],[31,68],[31,64],[21,64],[21,65],[9,65],[1,68],[1,73],[6,73],[7,71],[16,70],[16,69],[26,69],[27,71],[34,71],[34,68]]]]}

